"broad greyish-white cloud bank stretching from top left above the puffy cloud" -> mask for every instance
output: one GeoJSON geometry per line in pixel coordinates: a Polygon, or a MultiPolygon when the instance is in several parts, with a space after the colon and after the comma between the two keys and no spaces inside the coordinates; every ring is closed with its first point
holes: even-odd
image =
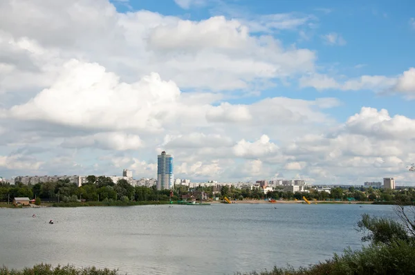
{"type": "MultiPolygon", "coordinates": [[[[40,82],[42,87],[53,82],[57,66],[68,59],[97,62],[122,75],[122,81],[134,82],[157,72],[181,88],[213,91],[248,88],[314,68],[312,50],[285,49],[273,37],[250,35],[238,20],[187,21],[145,10],[123,14],[106,0],[94,5],[89,0],[62,5],[22,0],[11,5],[9,1],[0,4],[3,35],[27,37],[42,46],[44,52],[32,53],[30,59],[39,59],[35,68],[47,67],[50,75],[20,77],[24,82],[40,82]]],[[[17,73],[23,72],[2,76],[8,85],[27,87],[16,81],[17,73]]]]}

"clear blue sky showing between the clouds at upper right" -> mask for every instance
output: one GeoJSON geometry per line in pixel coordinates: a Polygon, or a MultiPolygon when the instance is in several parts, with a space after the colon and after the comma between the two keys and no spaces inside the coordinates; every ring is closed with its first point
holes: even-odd
{"type": "MultiPolygon", "coordinates": [[[[360,77],[360,75],[399,75],[414,66],[415,28],[409,19],[414,17],[414,1],[269,1],[229,0],[190,1],[190,8],[181,8],[175,1],[113,1],[120,12],[151,10],[162,15],[173,15],[183,19],[200,21],[212,15],[256,18],[260,15],[297,13],[315,17],[309,39],[299,36],[299,28],[281,30],[272,34],[284,46],[295,44],[299,48],[310,48],[317,52],[317,66],[322,72],[335,75],[360,77]],[[160,5],[163,3],[163,5],[160,5]],[[344,46],[328,45],[322,35],[335,32],[340,34],[344,46]]],[[[263,35],[263,32],[253,35],[263,35]]],[[[328,92],[314,88],[299,89],[281,86],[261,91],[261,97],[275,95],[314,99],[326,96],[328,92]]],[[[362,106],[387,108],[391,115],[414,117],[412,101],[400,96],[376,95],[372,91],[329,91],[329,96],[341,100],[342,106],[329,110],[338,120],[343,121],[349,113],[358,112],[362,106]]],[[[235,103],[250,103],[252,98],[235,99],[235,103]]],[[[256,100],[256,99],[255,99],[256,100]]]]}

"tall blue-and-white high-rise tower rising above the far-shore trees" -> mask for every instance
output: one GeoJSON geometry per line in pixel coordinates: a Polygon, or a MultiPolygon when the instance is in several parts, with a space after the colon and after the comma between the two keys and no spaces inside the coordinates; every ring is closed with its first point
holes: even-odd
{"type": "Polygon", "coordinates": [[[166,151],[157,156],[157,190],[174,187],[174,156],[166,151]]]}

